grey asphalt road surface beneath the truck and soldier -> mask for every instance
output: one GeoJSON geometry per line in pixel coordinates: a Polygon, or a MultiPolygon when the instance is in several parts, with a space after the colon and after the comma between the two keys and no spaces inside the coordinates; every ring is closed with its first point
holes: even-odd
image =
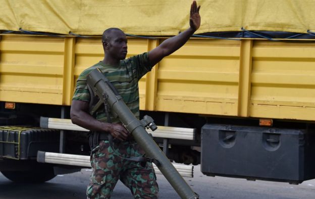
{"type": "MultiPolygon", "coordinates": [[[[13,183],[0,174],[0,198],[48,198],[71,199],[86,198],[85,188],[90,169],[81,172],[59,175],[43,184],[13,183]]],[[[160,186],[160,198],[179,198],[163,175],[157,175],[160,186]]],[[[194,177],[185,178],[200,198],[233,199],[313,199],[315,198],[315,180],[307,180],[299,185],[283,182],[247,181],[227,177],[208,177],[195,166],[194,177]]],[[[133,198],[129,189],[119,182],[113,192],[113,199],[133,198]]]]}

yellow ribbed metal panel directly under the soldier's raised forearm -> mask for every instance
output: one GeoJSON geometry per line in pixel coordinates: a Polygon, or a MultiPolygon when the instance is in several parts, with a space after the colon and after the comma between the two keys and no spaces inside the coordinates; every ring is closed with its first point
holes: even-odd
{"type": "Polygon", "coordinates": [[[237,115],[240,44],[191,39],[158,69],[156,111],[237,115]]]}

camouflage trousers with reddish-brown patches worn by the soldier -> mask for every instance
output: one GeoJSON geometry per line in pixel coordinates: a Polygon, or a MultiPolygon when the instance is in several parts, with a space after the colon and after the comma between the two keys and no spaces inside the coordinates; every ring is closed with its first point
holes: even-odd
{"type": "Polygon", "coordinates": [[[159,186],[156,182],[152,163],[126,160],[139,157],[144,151],[136,142],[113,143],[100,141],[91,152],[92,174],[86,194],[88,198],[110,198],[120,179],[131,191],[134,198],[158,198],[159,186]]]}

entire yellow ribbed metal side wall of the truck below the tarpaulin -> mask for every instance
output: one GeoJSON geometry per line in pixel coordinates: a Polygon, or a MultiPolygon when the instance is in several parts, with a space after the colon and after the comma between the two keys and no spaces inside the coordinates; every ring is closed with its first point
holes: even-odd
{"type": "MultiPolygon", "coordinates": [[[[128,56],[164,40],[129,38],[128,56]]],[[[3,35],[0,101],[69,106],[102,56],[99,37],[3,35]]],[[[140,80],[140,109],[314,120],[314,61],[313,43],[194,38],[140,80]]]]}

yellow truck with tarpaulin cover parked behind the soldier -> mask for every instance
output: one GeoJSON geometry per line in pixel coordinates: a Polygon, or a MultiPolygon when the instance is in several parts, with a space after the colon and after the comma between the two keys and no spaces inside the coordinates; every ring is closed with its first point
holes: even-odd
{"type": "MultiPolygon", "coordinates": [[[[126,32],[127,56],[146,52],[188,27],[190,3],[3,1],[0,171],[39,182],[88,167],[87,131],[69,112],[102,31],[126,32]]],[[[209,176],[315,178],[315,1],[198,4],[196,35],[139,82],[155,141],[209,176]]]]}

